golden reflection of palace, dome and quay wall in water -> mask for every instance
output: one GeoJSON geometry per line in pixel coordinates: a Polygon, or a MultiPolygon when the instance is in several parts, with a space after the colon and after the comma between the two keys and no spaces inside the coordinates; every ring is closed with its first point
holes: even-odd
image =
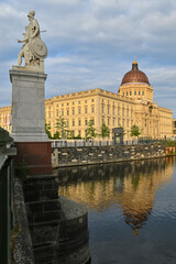
{"type": "Polygon", "coordinates": [[[146,223],[155,193],[173,178],[175,157],[59,168],[59,195],[88,210],[101,212],[120,206],[134,235],[146,223]]]}

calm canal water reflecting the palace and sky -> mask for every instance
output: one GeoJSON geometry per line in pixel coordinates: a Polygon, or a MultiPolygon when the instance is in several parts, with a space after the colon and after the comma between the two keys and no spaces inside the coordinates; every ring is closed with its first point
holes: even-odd
{"type": "Polygon", "coordinates": [[[88,209],[91,264],[176,263],[175,157],[59,168],[59,195],[88,209]]]}

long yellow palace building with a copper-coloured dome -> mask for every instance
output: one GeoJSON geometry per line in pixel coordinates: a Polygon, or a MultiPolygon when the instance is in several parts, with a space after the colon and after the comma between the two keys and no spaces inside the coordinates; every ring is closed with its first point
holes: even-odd
{"type": "MultiPolygon", "coordinates": [[[[10,112],[10,107],[0,108],[0,127],[8,131],[11,130],[10,112]]],[[[88,121],[92,120],[97,133],[106,123],[110,132],[122,127],[125,138],[130,139],[131,127],[136,124],[141,136],[169,139],[173,135],[172,114],[172,110],[153,102],[153,87],[135,59],[117,94],[96,88],[45,100],[45,119],[51,124],[52,134],[62,117],[74,136],[86,138],[88,121]]]]}

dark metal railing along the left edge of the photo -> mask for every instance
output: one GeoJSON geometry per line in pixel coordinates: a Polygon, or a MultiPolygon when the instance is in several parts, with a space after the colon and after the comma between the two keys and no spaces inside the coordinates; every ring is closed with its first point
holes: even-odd
{"type": "Polygon", "coordinates": [[[13,157],[8,131],[0,128],[0,263],[10,263],[10,241],[13,229],[13,157]]]}

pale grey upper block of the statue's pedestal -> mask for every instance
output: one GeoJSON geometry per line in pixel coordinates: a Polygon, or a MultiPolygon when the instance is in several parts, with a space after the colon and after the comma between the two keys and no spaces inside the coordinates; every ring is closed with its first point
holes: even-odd
{"type": "Polygon", "coordinates": [[[12,82],[12,133],[14,142],[48,141],[45,133],[46,74],[10,70],[12,82]]]}

